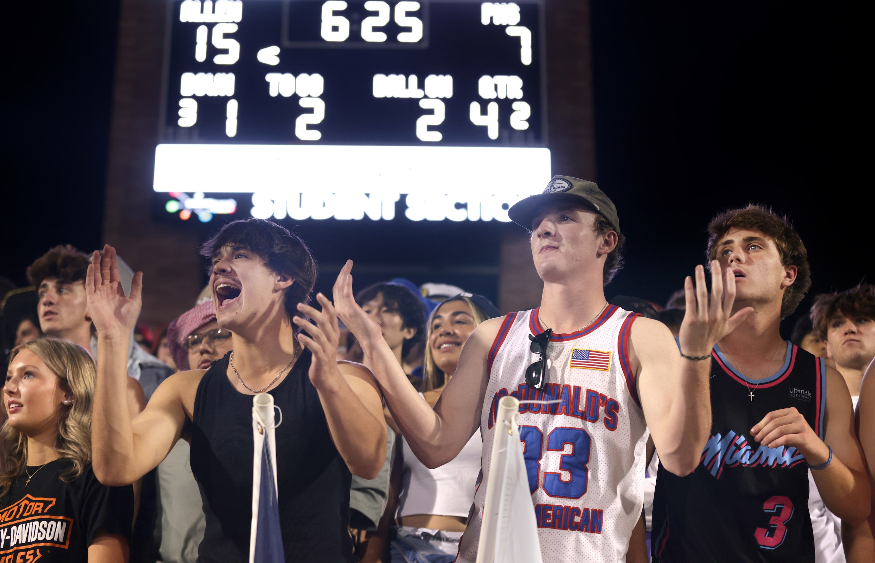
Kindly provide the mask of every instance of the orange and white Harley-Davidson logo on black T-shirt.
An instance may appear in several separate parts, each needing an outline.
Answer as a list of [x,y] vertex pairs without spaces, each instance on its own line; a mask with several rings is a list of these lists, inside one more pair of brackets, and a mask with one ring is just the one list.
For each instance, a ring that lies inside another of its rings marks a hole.
[[31,563],[42,557],[40,547],[70,546],[73,518],[47,512],[57,499],[25,495],[0,511],[0,563]]

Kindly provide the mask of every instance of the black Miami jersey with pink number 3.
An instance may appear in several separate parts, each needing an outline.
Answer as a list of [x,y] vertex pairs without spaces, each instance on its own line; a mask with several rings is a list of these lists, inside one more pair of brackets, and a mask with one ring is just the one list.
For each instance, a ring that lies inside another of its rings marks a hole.
[[[815,560],[808,465],[795,448],[750,437],[766,414],[796,407],[823,439],[823,359],[787,343],[773,376],[746,379],[717,346],[711,353],[711,437],[696,470],[679,477],[660,464],[651,553],[655,563]],[[750,393],[753,393],[751,400]]]

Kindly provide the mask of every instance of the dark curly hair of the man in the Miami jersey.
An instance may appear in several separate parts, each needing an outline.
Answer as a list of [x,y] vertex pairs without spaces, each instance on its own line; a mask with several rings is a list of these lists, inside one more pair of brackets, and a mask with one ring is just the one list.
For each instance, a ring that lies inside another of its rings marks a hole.
[[708,224],[708,257],[717,260],[717,250],[720,239],[731,229],[750,229],[765,234],[774,241],[781,255],[781,264],[796,267],[796,279],[784,291],[781,301],[781,318],[795,311],[802,297],[811,287],[811,268],[809,253],[802,244],[799,233],[796,233],[790,220],[772,211],[765,205],[747,205],[738,209],[730,209],[719,213]]

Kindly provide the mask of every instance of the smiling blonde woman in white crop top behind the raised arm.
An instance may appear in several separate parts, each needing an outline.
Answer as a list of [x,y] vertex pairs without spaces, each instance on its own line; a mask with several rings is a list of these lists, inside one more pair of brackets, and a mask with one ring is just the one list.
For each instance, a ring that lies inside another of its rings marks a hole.
[[[434,407],[456,372],[465,340],[479,323],[500,312],[482,295],[462,293],[432,312],[427,326],[421,393]],[[362,563],[428,561],[450,563],[465,532],[480,470],[482,442],[475,433],[456,459],[428,469],[402,436],[395,457],[388,504]],[[395,539],[388,546],[390,529]]]

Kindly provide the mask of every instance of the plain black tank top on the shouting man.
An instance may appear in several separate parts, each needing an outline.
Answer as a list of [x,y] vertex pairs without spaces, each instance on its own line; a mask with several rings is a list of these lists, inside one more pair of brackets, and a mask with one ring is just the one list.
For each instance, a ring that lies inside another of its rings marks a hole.
[[[351,474],[334,448],[307,375],[310,361],[304,349],[291,372],[269,391],[283,412],[276,428],[276,476],[285,560],[357,561],[346,528]],[[191,424],[192,471],[207,516],[198,550],[198,560],[205,563],[249,559],[253,396],[231,385],[227,369],[228,355],[200,380]]]

